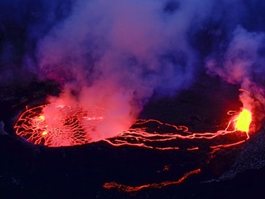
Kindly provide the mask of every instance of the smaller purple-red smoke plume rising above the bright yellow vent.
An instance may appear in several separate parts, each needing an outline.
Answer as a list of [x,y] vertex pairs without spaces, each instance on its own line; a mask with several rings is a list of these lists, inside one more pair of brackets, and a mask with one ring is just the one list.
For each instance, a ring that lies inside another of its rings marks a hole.
[[241,86],[239,99],[244,108],[253,112],[256,122],[264,118],[264,39],[263,32],[248,32],[237,26],[224,45],[225,52],[213,53],[206,59],[208,73]]

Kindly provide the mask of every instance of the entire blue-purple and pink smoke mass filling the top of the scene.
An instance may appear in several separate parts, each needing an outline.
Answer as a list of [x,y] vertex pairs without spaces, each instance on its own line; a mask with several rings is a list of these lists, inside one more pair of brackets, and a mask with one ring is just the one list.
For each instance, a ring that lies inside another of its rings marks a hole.
[[261,106],[264,8],[240,0],[1,1],[0,83],[52,79],[63,88],[52,102],[105,108],[95,140],[126,130],[150,97],[176,95],[204,71],[253,93],[241,95],[244,106]]

